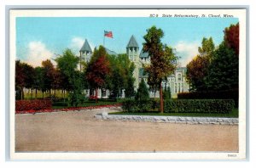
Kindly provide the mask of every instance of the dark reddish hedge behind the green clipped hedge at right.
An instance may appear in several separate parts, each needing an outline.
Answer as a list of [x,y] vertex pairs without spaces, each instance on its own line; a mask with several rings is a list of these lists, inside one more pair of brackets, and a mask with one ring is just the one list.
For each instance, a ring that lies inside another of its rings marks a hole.
[[230,89],[224,91],[206,91],[206,92],[180,92],[177,93],[178,99],[233,99],[238,107],[239,91]]

